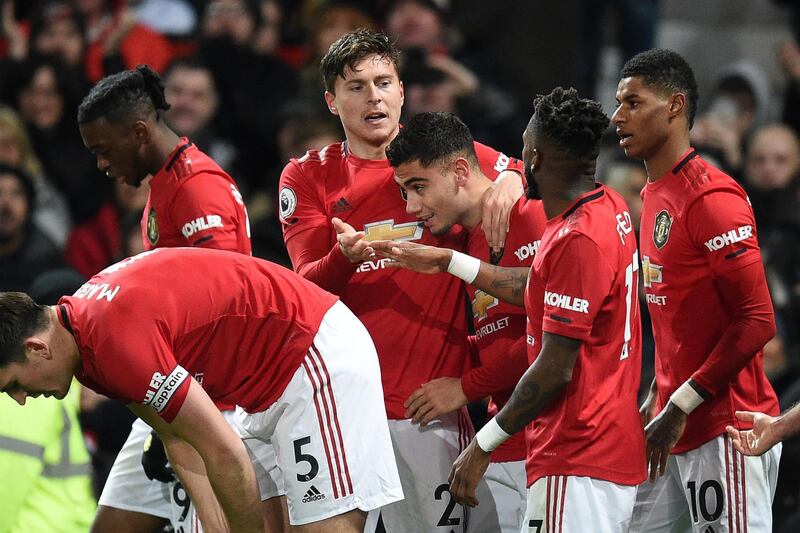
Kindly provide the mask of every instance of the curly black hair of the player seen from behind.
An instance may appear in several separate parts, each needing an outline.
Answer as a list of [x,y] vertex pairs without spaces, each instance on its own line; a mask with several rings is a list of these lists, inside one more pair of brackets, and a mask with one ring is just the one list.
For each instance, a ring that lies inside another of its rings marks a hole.
[[608,123],[598,102],[580,98],[573,88],[556,87],[550,94],[534,98],[528,130],[571,155],[594,159]]

